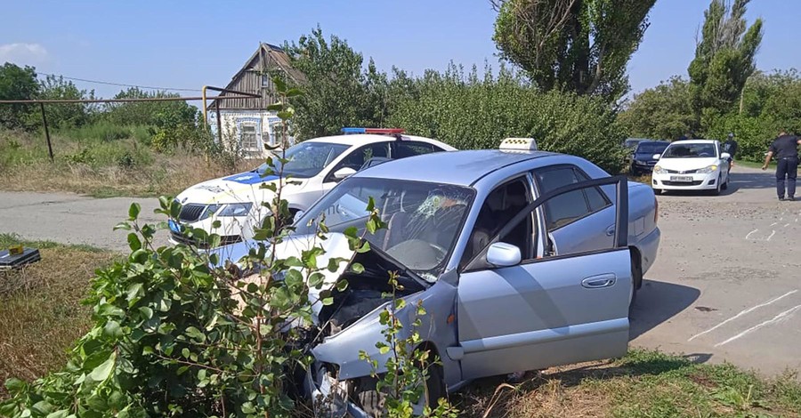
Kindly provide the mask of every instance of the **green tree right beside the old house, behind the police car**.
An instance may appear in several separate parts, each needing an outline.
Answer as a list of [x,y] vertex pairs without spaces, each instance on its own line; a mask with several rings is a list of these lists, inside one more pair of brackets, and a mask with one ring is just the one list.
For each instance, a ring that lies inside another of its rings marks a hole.
[[336,134],[348,125],[383,125],[386,76],[373,60],[365,70],[359,52],[337,36],[327,40],[320,28],[285,50],[305,75],[303,90],[311,92],[295,99],[298,138]]

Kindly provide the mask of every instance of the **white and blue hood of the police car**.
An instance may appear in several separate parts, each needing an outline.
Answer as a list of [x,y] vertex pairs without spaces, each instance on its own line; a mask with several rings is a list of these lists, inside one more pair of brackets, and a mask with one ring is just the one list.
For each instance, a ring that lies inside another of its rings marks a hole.
[[[271,190],[262,189],[264,182],[277,182],[279,176],[262,177],[256,172],[233,174],[219,179],[203,181],[189,189],[183,190],[176,197],[182,205],[187,204],[225,204],[237,202],[266,202],[272,197]],[[304,182],[299,185],[284,185],[287,189],[302,189]]]

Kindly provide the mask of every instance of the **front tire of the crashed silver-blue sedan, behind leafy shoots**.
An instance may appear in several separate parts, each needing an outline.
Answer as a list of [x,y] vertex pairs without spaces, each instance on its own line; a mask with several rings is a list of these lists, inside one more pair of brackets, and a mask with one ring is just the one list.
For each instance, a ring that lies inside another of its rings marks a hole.
[[[439,399],[447,394],[445,389],[445,378],[442,373],[442,366],[431,365],[428,367],[428,378],[425,380],[425,390],[415,409],[416,415],[423,414],[423,408],[429,406],[435,408]],[[364,377],[359,380],[356,389],[356,402],[361,409],[369,416],[384,416],[384,406],[386,405],[386,394],[376,390],[376,379]]]

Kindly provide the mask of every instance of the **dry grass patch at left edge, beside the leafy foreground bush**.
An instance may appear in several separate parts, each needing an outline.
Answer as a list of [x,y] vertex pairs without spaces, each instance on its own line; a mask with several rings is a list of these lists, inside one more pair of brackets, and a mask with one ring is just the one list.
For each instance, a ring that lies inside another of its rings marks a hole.
[[0,234],[0,248],[13,244],[38,248],[42,260],[0,272],[0,382],[34,379],[65,364],[67,350],[90,326],[90,309],[81,301],[94,270],[118,257],[87,245]]

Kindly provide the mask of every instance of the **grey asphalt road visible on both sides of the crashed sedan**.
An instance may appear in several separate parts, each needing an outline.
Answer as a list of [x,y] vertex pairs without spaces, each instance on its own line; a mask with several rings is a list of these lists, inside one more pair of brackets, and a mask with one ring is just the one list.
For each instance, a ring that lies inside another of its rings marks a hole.
[[[777,201],[774,183],[735,167],[722,196],[659,197],[662,242],[633,312],[633,345],[764,374],[801,370],[801,201]],[[132,201],[144,221],[160,220],[155,199],[0,192],[0,232],[125,251],[125,233],[112,228]]]

